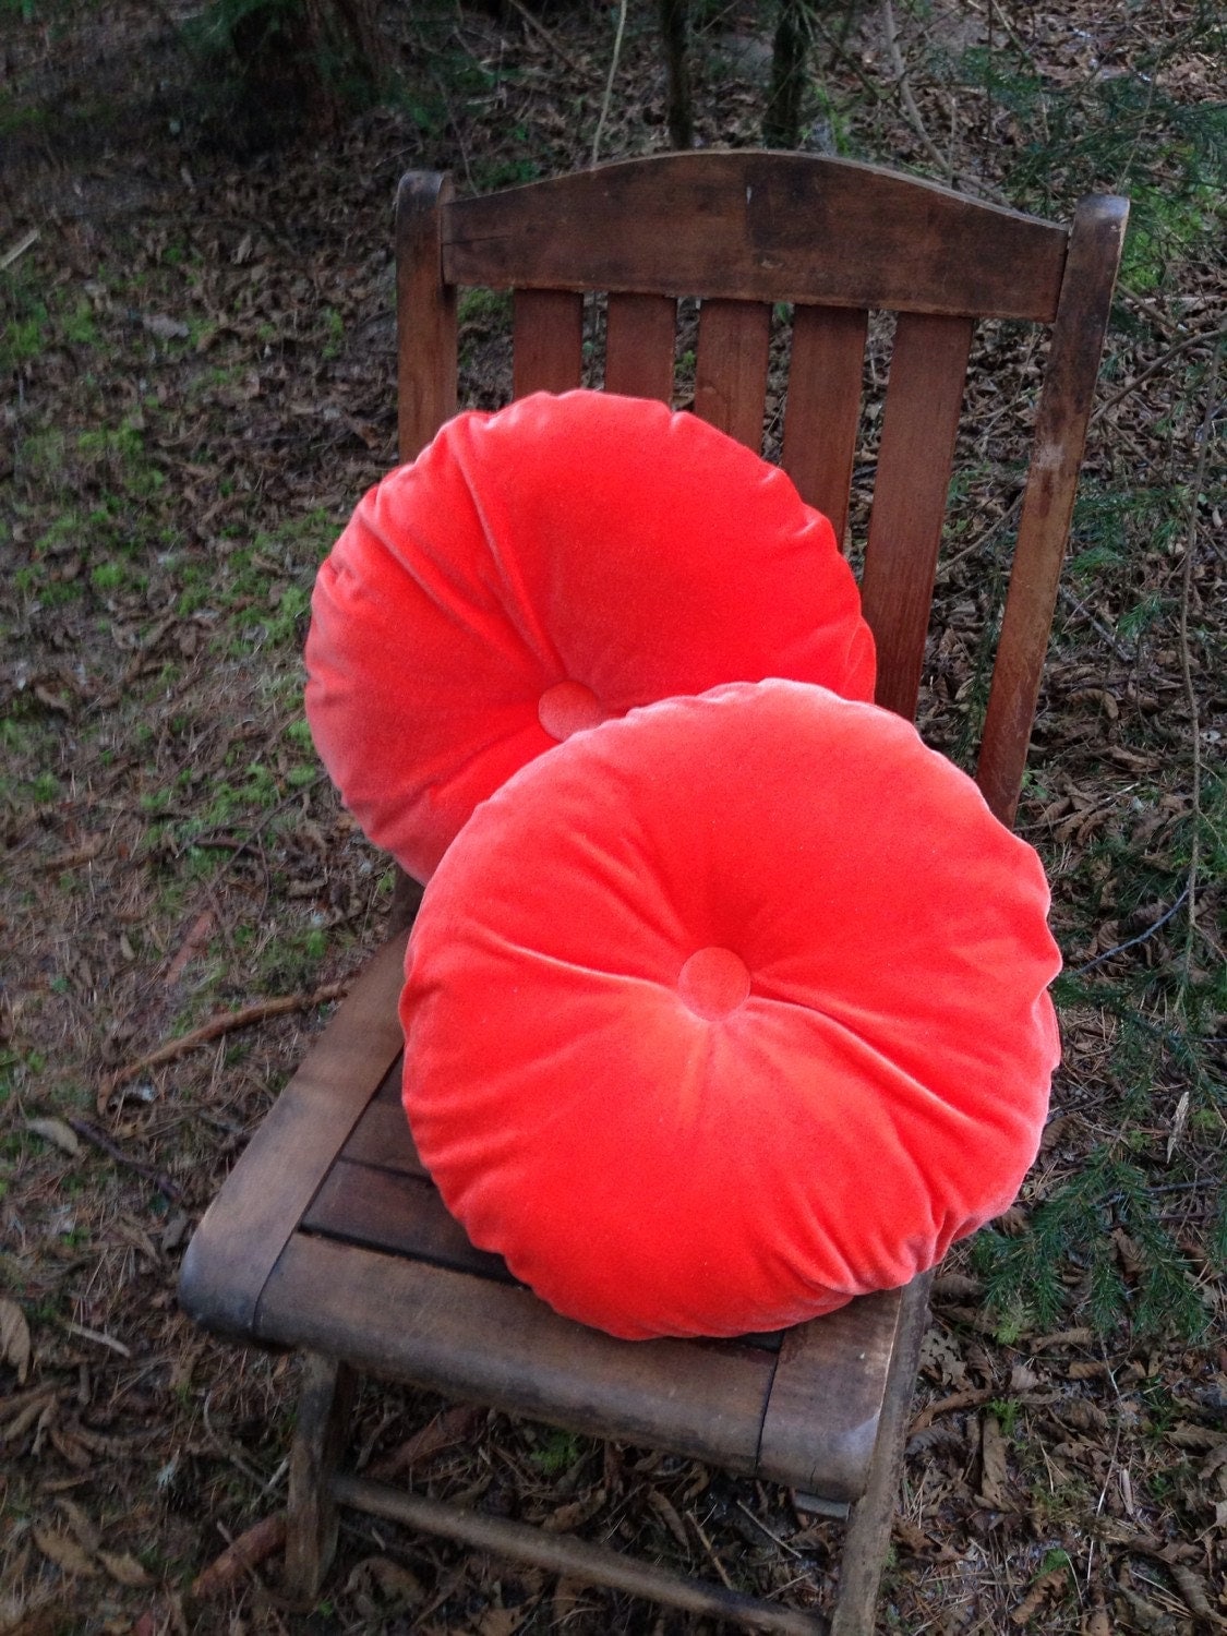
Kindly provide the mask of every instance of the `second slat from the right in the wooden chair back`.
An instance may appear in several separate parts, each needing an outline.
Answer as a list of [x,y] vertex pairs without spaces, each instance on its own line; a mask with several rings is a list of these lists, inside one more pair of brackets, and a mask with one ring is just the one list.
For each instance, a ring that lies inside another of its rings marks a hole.
[[802,499],[831,519],[844,543],[861,419],[869,312],[798,306],[792,326],[780,465]]

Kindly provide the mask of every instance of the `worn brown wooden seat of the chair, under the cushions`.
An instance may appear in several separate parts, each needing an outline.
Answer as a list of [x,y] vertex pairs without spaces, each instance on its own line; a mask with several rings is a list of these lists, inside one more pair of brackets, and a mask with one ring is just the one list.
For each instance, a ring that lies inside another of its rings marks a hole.
[[401,1111],[404,934],[363,967],[188,1248],[208,1328],[718,1461],[844,1507],[865,1489],[901,1292],[738,1340],[623,1342],[476,1250]]

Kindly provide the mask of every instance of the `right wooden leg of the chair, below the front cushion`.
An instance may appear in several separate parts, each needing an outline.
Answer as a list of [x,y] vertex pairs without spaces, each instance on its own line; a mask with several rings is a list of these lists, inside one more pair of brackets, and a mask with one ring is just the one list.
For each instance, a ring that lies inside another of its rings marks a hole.
[[890,1525],[898,1502],[911,1391],[929,1319],[931,1283],[933,1273],[923,1273],[919,1278],[913,1278],[903,1294],[900,1330],[890,1360],[869,1484],[852,1508],[852,1520],[844,1539],[831,1636],[874,1636],[874,1610],[890,1549]]

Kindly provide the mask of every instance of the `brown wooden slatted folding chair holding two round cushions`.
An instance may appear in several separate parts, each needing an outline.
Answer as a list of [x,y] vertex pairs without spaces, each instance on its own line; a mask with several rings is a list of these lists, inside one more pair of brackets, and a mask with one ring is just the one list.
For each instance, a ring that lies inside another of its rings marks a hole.
[[[793,154],[669,154],[466,200],[443,175],[409,173],[396,229],[401,456],[456,411],[458,286],[515,291],[515,394],[581,383],[584,293],[599,291],[605,388],[671,399],[677,298],[700,298],[694,411],[754,448],[772,314],[790,303],[782,465],[843,538],[867,314],[897,312],[862,597],[879,702],[911,717],[973,321],[1050,326],[978,761],[1009,823],[1126,214],[1124,200],[1093,196],[1067,229]],[[404,923],[407,895],[398,901]],[[353,983],[201,1220],[180,1284],[206,1327],[308,1355],[291,1589],[317,1590],[345,1503],[757,1629],[826,1629],[811,1613],[342,1474],[365,1371],[774,1479],[828,1513],[851,1508],[831,1628],[870,1631],[928,1279],[739,1342],[628,1343],[556,1317],[471,1248],[417,1160],[399,1108],[402,949],[401,928]]]

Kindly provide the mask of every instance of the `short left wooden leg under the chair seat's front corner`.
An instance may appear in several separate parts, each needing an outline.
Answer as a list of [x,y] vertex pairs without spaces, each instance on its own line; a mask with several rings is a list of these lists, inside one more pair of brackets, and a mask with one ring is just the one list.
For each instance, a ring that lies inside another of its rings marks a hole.
[[345,1446],[355,1376],[345,1363],[309,1351],[303,1360],[298,1427],[290,1451],[286,1589],[312,1602],[337,1551],[337,1507],[329,1484]]

